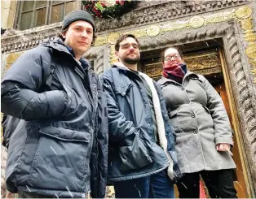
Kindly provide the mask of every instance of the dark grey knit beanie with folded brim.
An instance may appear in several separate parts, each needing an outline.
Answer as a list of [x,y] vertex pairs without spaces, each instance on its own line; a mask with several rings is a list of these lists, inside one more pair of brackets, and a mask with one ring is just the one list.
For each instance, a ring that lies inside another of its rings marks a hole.
[[89,24],[92,25],[92,28],[95,32],[95,22],[92,18],[92,16],[86,12],[86,11],[72,11],[69,12],[68,15],[65,15],[63,21],[62,21],[62,30],[64,30],[65,28],[68,28],[68,25],[72,24],[75,21],[78,20],[83,20],[88,22]]

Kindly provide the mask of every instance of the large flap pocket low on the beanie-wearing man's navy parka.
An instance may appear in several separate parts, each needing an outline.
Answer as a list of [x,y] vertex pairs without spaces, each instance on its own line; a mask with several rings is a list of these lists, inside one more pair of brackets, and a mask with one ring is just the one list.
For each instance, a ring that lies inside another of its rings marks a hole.
[[57,127],[41,128],[39,134],[29,184],[41,189],[86,191],[91,134]]

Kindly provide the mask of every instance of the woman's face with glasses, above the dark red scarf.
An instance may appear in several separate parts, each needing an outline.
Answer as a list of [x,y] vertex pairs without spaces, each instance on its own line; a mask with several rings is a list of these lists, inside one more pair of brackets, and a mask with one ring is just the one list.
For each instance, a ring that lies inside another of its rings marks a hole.
[[164,66],[183,63],[183,59],[180,57],[178,50],[174,48],[167,49],[164,55]]

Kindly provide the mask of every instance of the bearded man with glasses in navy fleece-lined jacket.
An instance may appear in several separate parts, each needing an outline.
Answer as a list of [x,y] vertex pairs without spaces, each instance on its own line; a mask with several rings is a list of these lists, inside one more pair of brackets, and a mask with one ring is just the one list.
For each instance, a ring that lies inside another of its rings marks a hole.
[[121,36],[118,63],[104,72],[108,104],[108,183],[117,198],[173,198],[181,173],[161,88],[137,71],[139,41]]

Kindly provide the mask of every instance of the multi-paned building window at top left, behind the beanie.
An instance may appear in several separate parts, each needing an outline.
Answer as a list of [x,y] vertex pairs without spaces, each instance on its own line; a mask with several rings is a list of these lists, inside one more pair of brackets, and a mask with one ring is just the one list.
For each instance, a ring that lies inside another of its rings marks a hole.
[[[79,2],[82,4],[82,2]],[[20,1],[18,24],[20,30],[53,24],[76,9],[75,1]]]

